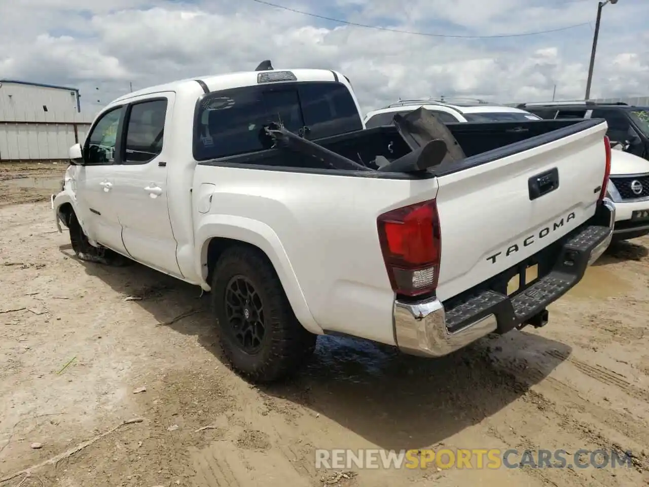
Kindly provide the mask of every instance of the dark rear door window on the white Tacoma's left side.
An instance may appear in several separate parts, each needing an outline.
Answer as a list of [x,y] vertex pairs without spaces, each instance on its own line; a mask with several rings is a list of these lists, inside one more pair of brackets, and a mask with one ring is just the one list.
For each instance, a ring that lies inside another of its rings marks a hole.
[[146,164],[162,152],[167,100],[136,103],[126,131],[125,164]]

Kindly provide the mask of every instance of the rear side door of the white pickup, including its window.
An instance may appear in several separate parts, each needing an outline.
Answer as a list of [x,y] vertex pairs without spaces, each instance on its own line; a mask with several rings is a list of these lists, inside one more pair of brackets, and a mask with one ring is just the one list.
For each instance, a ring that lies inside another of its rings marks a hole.
[[115,195],[129,255],[154,269],[183,277],[167,206],[171,140],[165,140],[169,138],[164,132],[174,99],[175,94],[168,92],[130,103],[124,123],[124,156],[115,168]]

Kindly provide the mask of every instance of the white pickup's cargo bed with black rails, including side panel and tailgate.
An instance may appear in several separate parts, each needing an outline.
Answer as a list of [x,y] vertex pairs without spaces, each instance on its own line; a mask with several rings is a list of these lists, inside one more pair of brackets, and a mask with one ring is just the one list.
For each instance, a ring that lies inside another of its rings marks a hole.
[[247,228],[240,238],[277,255],[273,263],[284,269],[280,279],[291,303],[308,303],[308,312],[297,312],[300,321],[382,343],[394,343],[395,291],[377,231],[386,212],[434,201],[441,229],[434,295],[441,303],[499,288],[494,280],[506,284],[520,266],[537,265],[542,279],[547,263],[559,258],[557,248],[596,214],[606,178],[606,123],[447,127],[465,157],[424,171],[374,170],[377,156],[391,161],[418,150],[411,133],[396,125],[314,141],[365,166],[358,170],[333,167],[335,157],[319,156],[313,146],[305,149],[311,155],[296,150],[304,144],[202,160],[193,182],[197,239],[206,221],[236,238],[232,221],[238,221],[237,229]]

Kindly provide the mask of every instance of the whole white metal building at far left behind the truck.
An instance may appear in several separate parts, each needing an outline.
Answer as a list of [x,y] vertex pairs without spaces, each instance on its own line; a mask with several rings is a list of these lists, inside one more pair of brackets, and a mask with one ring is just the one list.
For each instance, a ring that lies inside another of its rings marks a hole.
[[77,88],[0,79],[0,163],[65,162],[91,121]]

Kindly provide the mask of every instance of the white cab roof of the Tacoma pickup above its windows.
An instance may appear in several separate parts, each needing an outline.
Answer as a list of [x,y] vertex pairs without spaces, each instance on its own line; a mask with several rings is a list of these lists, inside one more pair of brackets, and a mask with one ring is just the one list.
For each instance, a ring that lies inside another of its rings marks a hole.
[[114,99],[111,104],[141,95],[150,95],[161,92],[178,92],[182,90],[191,90],[192,92],[195,92],[196,90],[203,91],[201,88],[201,82],[208,87],[210,92],[227,90],[228,88],[238,88],[239,86],[254,86],[259,82],[258,75],[260,73],[283,73],[286,71],[290,71],[295,75],[295,78],[297,78],[295,81],[341,81],[341,78],[344,78],[341,73],[337,73],[330,69],[270,69],[268,71],[238,71],[235,73],[224,73],[222,75],[205,75],[180,79],[165,84],[149,86],[142,90],[122,95],[121,97]]

